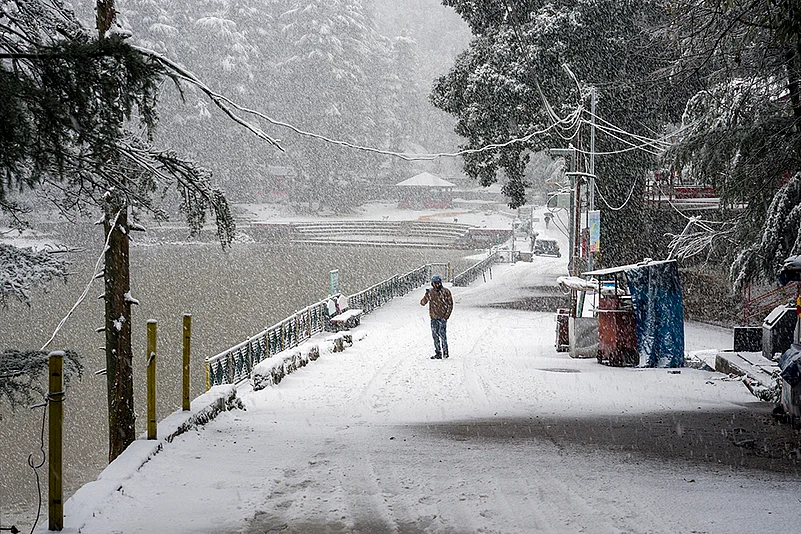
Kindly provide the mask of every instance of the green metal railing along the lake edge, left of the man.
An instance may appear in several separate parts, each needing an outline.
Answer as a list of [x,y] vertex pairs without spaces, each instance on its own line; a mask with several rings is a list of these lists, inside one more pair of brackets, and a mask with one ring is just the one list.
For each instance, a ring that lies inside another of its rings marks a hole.
[[[395,275],[348,297],[350,308],[367,314],[394,297],[406,295],[427,283],[434,273],[447,279],[450,264],[429,263],[406,274]],[[330,298],[330,297],[329,297]],[[236,384],[250,378],[253,367],[265,358],[297,347],[325,330],[328,319],[328,298],[287,317],[255,336],[211,358],[206,358],[206,389],[219,384]]]

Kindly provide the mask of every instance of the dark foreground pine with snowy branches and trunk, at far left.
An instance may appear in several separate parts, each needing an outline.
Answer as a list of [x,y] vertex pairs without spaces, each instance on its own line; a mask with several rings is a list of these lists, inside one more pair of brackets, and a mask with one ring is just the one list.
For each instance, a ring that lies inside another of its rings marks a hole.
[[152,146],[158,87],[175,71],[130,46],[115,13],[113,1],[97,3],[94,37],[59,0],[0,0],[0,209],[22,218],[11,195],[31,189],[64,212],[104,214],[109,460],[135,439],[131,208],[165,217],[154,195],[172,185],[193,233],[207,212],[223,246],[235,229],[209,173]]

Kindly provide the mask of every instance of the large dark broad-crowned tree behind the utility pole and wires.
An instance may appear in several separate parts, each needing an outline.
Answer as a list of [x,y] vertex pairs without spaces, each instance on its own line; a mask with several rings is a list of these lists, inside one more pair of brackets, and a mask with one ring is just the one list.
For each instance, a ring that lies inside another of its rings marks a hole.
[[[554,128],[548,106],[562,118],[582,106],[587,109],[588,89],[594,86],[599,114],[620,128],[659,135],[666,124],[678,121],[681,93],[669,79],[653,75],[670,64],[672,51],[664,34],[649,31],[667,16],[661,2],[444,0],[443,4],[452,6],[474,35],[469,49],[432,93],[434,105],[457,117],[456,131],[466,139],[463,148],[505,143],[551,127],[547,134],[525,142],[464,158],[465,171],[481,185],[503,180],[502,190],[513,208],[526,201],[530,184],[525,171],[533,152],[568,143],[578,146],[580,141],[587,149],[586,129],[580,133],[573,121]],[[564,66],[574,73],[575,81]],[[665,94],[672,98],[665,100]],[[588,119],[586,112],[582,117]],[[624,148],[628,147],[615,138],[599,134],[598,152]],[[638,237],[643,233],[644,178],[656,163],[656,157],[640,151],[596,159],[600,193],[596,198],[604,228],[601,249],[607,264],[643,257],[646,243]],[[583,157],[578,169],[587,170]],[[629,192],[631,201],[614,210]]]

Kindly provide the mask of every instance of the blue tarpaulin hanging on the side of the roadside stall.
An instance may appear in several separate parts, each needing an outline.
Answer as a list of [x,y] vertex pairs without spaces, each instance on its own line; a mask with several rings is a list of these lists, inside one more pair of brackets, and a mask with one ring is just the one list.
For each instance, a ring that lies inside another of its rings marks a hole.
[[626,269],[637,318],[640,365],[684,365],[684,304],[675,261],[632,265]]

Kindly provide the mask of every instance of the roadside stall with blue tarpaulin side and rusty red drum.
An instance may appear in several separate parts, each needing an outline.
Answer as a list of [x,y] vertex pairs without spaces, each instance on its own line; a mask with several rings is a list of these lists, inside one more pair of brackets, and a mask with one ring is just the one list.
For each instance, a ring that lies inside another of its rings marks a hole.
[[675,260],[584,273],[598,282],[598,361],[614,366],[684,365],[684,306]]

